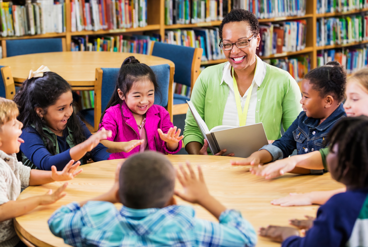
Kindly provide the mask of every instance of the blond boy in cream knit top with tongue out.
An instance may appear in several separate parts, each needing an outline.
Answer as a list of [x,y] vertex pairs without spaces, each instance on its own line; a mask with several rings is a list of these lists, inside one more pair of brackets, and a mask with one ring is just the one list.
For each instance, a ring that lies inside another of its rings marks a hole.
[[29,185],[42,185],[54,181],[70,180],[77,176],[82,169],[76,171],[80,162],[73,165],[71,160],[63,171],[40,171],[26,167],[18,162],[16,153],[24,141],[19,137],[23,124],[17,120],[18,107],[12,100],[0,97],[0,246],[25,246],[14,230],[13,218],[33,210],[38,205],[52,204],[66,194],[64,183],[54,193],[50,190],[42,196],[17,200]]

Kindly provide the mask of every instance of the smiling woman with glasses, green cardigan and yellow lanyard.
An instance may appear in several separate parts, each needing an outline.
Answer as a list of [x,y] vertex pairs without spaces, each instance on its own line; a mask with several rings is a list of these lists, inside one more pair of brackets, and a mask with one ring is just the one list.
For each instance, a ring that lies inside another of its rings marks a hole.
[[[208,129],[262,122],[267,138],[279,139],[281,124],[286,131],[302,111],[296,81],[289,72],[256,56],[261,37],[253,13],[231,10],[220,25],[219,36],[219,46],[227,62],[201,72],[192,91],[192,103]],[[185,119],[183,141],[189,154],[207,154],[208,144],[190,110]],[[216,155],[225,152],[221,150]]]

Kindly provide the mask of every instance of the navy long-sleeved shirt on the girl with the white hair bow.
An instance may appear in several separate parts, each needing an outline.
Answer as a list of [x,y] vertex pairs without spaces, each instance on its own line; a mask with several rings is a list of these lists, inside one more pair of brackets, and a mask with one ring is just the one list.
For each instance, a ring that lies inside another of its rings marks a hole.
[[[81,124],[84,136],[88,139],[92,134],[88,130],[87,126],[82,122],[79,117],[78,120]],[[63,131],[67,132],[66,130]],[[70,147],[66,143],[66,136],[57,136],[57,142],[59,145],[59,154],[52,155],[43,143],[42,137],[39,135],[37,130],[31,126],[26,127],[22,135],[20,136],[24,143],[21,144],[20,150],[22,153],[38,168],[41,170],[51,171],[51,167],[56,166],[58,171],[61,171],[66,164],[71,160]],[[63,143],[64,140],[64,143]],[[107,160],[110,157],[110,153],[107,153],[107,147],[99,143],[95,148],[92,149],[92,160],[102,161]]]

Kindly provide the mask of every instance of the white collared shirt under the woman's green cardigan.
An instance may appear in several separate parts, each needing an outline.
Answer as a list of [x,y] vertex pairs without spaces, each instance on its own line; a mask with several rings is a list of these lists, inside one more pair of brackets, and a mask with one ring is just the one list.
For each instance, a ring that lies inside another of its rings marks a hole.
[[[255,69],[255,74],[253,78],[253,90],[251,94],[251,99],[249,101],[249,108],[247,113],[247,123],[245,125],[251,125],[255,124],[255,114],[256,114],[256,104],[257,104],[257,88],[261,86],[263,79],[265,79],[266,76],[266,64],[256,56],[257,66]],[[239,116],[238,111],[236,108],[236,102],[235,102],[235,93],[234,93],[234,83],[233,83],[233,77],[231,76],[231,65],[230,62],[226,62],[224,65],[223,71],[222,71],[222,79],[221,83],[226,83],[229,87],[229,96],[227,96],[227,101],[224,109],[224,115],[222,119],[223,125],[230,125],[230,126],[239,126]],[[241,109],[244,111],[244,105],[245,100],[247,100],[248,91],[244,93],[244,96],[241,97],[240,94],[238,94],[238,97],[240,98],[241,103]]]

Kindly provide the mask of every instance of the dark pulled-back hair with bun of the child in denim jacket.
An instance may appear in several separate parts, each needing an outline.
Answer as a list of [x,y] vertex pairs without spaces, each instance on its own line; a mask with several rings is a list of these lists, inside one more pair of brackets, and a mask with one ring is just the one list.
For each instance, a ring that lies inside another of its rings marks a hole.
[[346,71],[339,62],[328,62],[325,66],[312,69],[304,79],[312,83],[313,89],[317,90],[321,97],[331,94],[338,102],[345,98]]

